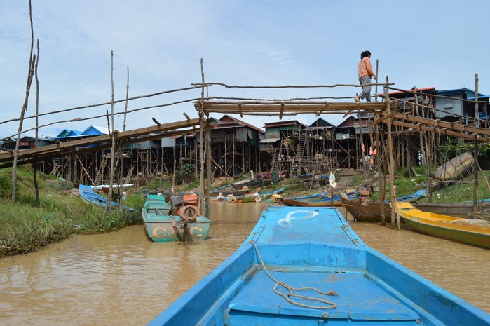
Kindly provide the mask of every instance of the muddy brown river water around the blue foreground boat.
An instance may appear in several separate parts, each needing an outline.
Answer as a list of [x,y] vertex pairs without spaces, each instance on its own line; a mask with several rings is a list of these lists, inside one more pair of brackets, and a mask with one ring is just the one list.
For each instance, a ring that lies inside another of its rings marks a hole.
[[[0,325],[146,325],[235,252],[263,208],[211,203],[202,242],[152,243],[138,225],[2,258]],[[490,313],[490,250],[350,224],[367,245]]]

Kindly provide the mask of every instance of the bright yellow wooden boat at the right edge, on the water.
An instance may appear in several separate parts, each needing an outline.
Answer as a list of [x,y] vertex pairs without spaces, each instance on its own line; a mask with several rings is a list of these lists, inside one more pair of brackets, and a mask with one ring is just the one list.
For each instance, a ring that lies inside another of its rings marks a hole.
[[431,212],[422,212],[410,203],[397,203],[397,211],[417,231],[490,248],[490,223],[482,219],[465,219]]

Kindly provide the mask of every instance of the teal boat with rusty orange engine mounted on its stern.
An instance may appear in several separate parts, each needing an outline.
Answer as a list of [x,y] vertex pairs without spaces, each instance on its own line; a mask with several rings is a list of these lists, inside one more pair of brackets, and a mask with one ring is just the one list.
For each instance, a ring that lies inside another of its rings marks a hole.
[[205,240],[210,219],[197,215],[197,197],[148,195],[142,209],[144,229],[152,241]]

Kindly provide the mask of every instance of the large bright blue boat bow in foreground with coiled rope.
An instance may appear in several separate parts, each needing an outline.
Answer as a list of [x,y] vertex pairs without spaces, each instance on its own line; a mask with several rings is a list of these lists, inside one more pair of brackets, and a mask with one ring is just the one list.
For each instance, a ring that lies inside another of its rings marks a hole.
[[339,210],[273,206],[148,325],[488,326],[490,315],[365,245]]

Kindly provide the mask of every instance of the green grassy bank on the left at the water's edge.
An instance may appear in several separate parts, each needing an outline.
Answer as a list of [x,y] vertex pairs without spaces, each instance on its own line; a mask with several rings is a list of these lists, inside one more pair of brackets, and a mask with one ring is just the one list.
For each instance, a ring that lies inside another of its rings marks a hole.
[[[64,240],[72,234],[116,231],[139,222],[125,211],[114,210],[104,216],[104,209],[86,203],[72,194],[70,182],[38,173],[39,203],[35,201],[33,170],[23,165],[17,172],[15,203],[11,203],[12,170],[0,170],[0,257],[33,252]],[[130,196],[125,205],[141,211],[142,196]]]

